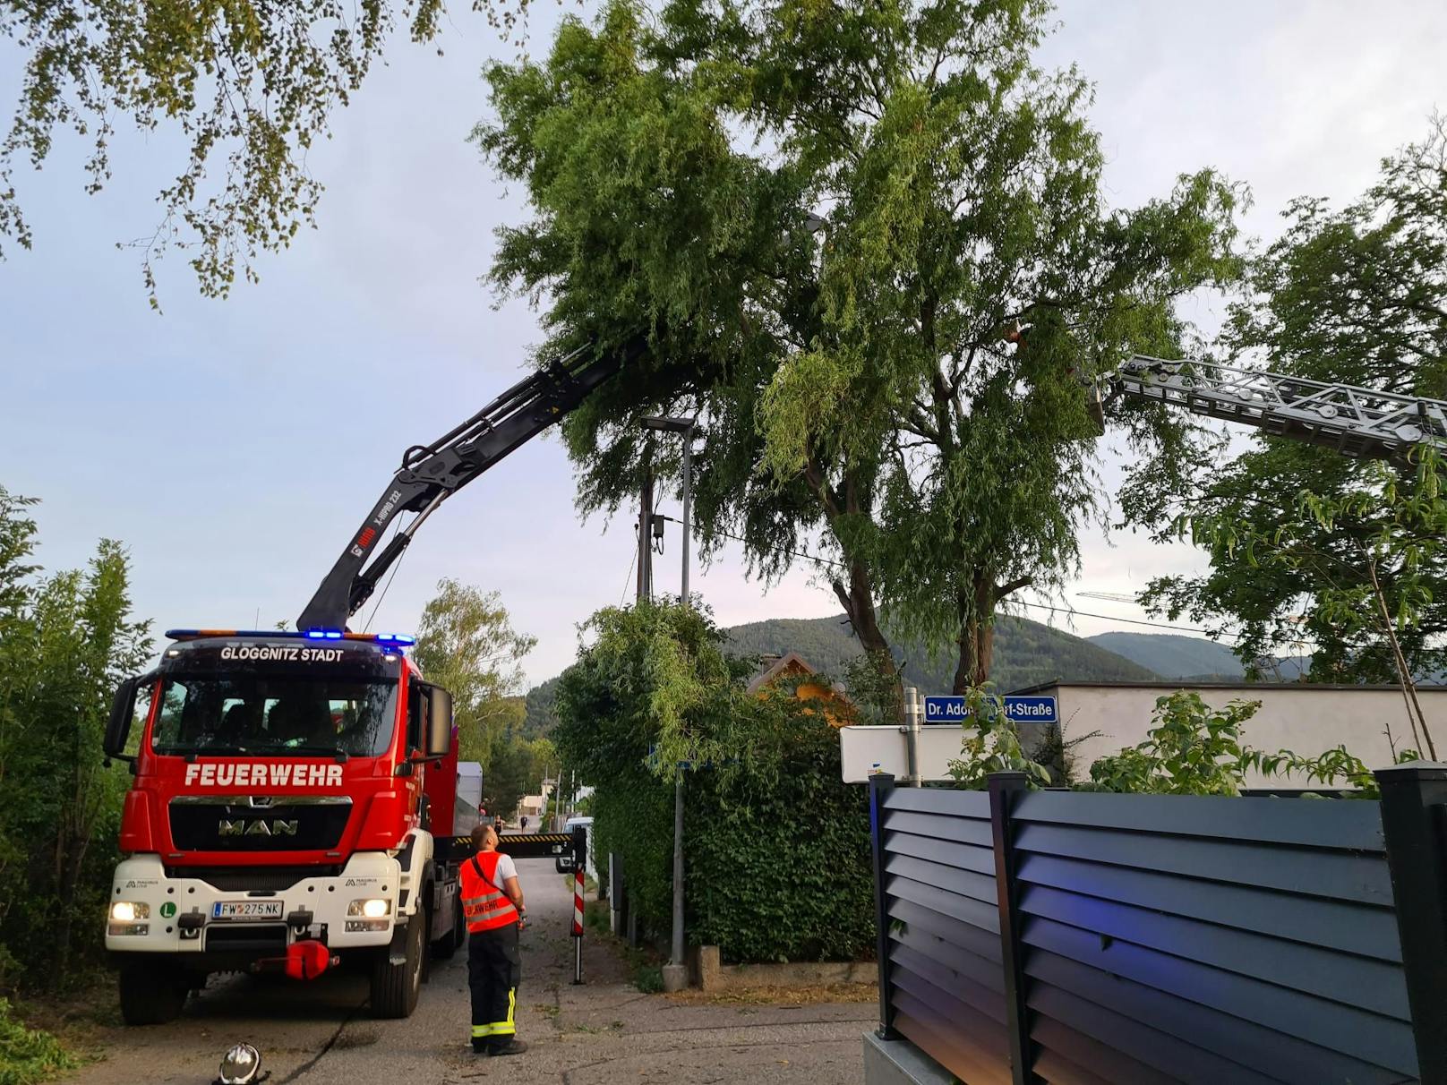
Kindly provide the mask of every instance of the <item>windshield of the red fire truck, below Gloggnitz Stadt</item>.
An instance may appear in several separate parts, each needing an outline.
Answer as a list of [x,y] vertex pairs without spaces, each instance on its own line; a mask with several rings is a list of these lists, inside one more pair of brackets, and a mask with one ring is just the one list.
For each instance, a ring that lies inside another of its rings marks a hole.
[[168,677],[158,754],[378,757],[392,741],[396,681],[285,674]]

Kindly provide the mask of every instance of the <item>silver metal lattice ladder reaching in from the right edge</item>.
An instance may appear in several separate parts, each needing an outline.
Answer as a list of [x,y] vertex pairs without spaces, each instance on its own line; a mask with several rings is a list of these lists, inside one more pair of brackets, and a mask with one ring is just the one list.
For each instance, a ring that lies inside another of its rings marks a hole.
[[1343,456],[1402,459],[1417,444],[1447,450],[1447,402],[1441,399],[1146,354],[1121,366],[1116,388]]

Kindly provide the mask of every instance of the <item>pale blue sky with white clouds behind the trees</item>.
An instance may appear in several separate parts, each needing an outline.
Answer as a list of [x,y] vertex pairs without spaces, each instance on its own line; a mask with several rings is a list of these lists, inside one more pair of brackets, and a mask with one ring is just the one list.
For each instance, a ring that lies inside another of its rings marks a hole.
[[[534,0],[534,51],[560,10]],[[1440,0],[1066,0],[1056,19],[1039,61],[1077,64],[1095,84],[1091,116],[1120,207],[1210,165],[1250,185],[1246,230],[1269,240],[1292,197],[1350,200],[1383,155],[1447,110]],[[464,6],[441,46],[438,56],[398,42],[336,114],[310,155],[327,185],[318,229],[265,256],[260,284],[226,301],[201,298],[172,256],[156,315],[135,250],[116,247],[155,229],[155,192],[182,162],[174,136],[122,133],[100,195],[82,191],[75,137],[56,140],[43,171],[17,171],[35,247],[6,246],[0,262],[0,485],[42,499],[48,569],[81,566],[98,538],[119,538],[136,612],[158,629],[292,621],[402,448],[524,373],[537,314],[499,307],[479,279],[493,230],[527,208],[466,142],[489,113],[483,64],[518,46]],[[0,43],[7,109],[19,65]],[[1220,304],[1195,298],[1185,315],[1211,330]],[[1103,486],[1120,470],[1107,451]],[[556,437],[521,448],[418,532],[370,628],[415,628],[437,580],[456,577],[501,592],[515,628],[538,638],[530,681],[556,674],[576,655],[577,624],[632,587],[627,514],[585,521],[573,496]],[[679,590],[670,532],[655,558],[661,592]],[[1107,618],[1023,613],[1079,635],[1147,631],[1127,624],[1147,618],[1134,605],[1075,593],[1134,593],[1201,566],[1185,545],[1091,529],[1066,603]],[[695,569],[692,586],[724,625],[839,609],[807,567],[770,587],[750,582],[738,550]]]

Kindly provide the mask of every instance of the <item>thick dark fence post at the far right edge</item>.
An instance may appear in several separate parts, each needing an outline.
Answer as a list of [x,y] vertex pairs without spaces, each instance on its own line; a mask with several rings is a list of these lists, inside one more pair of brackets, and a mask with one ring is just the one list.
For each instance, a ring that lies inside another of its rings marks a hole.
[[1373,775],[1382,788],[1418,1076],[1447,1081],[1447,764],[1408,761]]

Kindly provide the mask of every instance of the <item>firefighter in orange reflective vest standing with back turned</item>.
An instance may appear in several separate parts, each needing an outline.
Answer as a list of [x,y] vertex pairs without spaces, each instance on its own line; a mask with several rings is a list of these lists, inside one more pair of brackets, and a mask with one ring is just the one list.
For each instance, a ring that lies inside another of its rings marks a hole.
[[522,959],[518,932],[527,923],[518,868],[498,851],[491,825],[472,830],[476,855],[462,865],[462,911],[467,920],[467,987],[472,990],[475,1055],[521,1055],[514,1014]]

